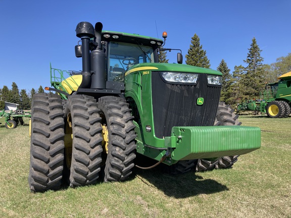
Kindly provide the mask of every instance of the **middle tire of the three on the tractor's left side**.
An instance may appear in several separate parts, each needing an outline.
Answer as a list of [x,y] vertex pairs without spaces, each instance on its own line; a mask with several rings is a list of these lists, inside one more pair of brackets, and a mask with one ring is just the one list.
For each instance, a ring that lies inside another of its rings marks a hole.
[[70,187],[94,184],[99,178],[102,161],[100,110],[96,100],[87,95],[71,95],[63,105],[67,118],[66,134],[72,134],[72,142],[66,142],[72,147],[66,147],[65,152]]

